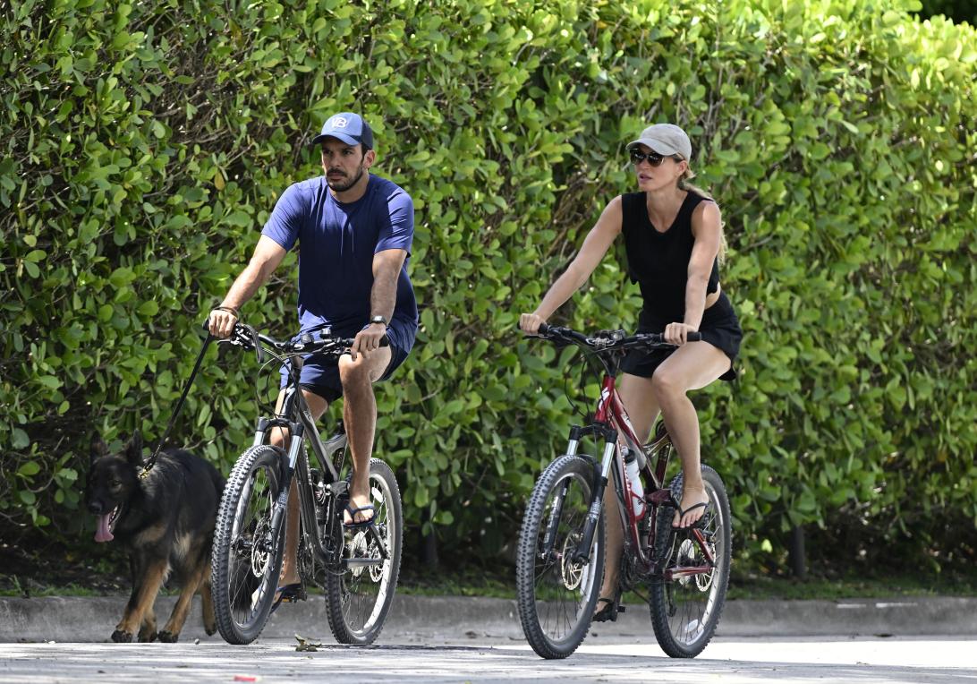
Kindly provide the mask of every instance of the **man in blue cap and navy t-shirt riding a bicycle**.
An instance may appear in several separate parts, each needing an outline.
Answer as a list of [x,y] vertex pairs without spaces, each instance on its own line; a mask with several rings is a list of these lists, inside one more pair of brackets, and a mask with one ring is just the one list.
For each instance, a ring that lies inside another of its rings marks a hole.
[[[353,456],[350,504],[344,522],[372,524],[368,489],[369,459],[376,427],[372,383],[385,380],[413,347],[417,305],[407,277],[414,211],[410,195],[369,173],[376,159],[373,132],[359,115],[330,116],[313,139],[320,148],[323,176],[290,186],[279,198],[262,230],[250,263],[210,313],[210,332],[231,334],[240,307],[275,271],[296,240],[299,252],[298,312],[301,331],[321,330],[355,337],[350,354],[307,358],[301,371],[302,393],[313,418],[345,396],[343,421]],[[384,336],[389,346],[381,346]],[[282,368],[282,387],[285,369]],[[280,408],[283,395],[278,396]],[[275,430],[272,444],[286,448]],[[293,483],[288,496],[285,555],[278,581],[277,606],[304,597],[296,566],[299,510]]]

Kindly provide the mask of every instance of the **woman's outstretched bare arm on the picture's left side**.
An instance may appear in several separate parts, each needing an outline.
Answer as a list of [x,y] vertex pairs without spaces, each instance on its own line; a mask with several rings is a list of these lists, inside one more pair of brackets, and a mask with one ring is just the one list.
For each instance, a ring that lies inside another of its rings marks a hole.
[[622,217],[621,199],[618,195],[604,208],[601,217],[583,240],[579,253],[563,275],[549,288],[536,310],[519,317],[519,326],[524,332],[536,333],[540,323],[546,322],[553,312],[570,299],[573,292],[578,290],[587,278],[590,278],[590,274],[597,268],[620,233]]

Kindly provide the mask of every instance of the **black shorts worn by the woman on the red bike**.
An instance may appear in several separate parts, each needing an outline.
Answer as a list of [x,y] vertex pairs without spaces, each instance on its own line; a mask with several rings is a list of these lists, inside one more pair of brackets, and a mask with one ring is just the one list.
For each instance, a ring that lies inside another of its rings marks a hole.
[[[674,321],[656,320],[648,312],[641,312],[637,332],[664,332],[665,325]],[[743,329],[736,318],[733,305],[725,292],[719,293],[719,299],[702,314],[699,326],[702,341],[722,350],[730,358],[730,369],[719,376],[720,380],[735,380],[737,377],[737,355],[740,354],[740,342],[743,340]],[[677,349],[677,348],[676,348]],[[622,372],[639,377],[651,377],[656,368],[667,359],[675,349],[656,349],[651,352],[631,350],[620,363]]]

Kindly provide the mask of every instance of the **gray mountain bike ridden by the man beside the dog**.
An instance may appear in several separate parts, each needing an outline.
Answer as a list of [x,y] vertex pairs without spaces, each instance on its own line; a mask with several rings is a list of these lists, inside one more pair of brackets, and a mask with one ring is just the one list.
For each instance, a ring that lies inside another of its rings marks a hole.
[[[228,477],[214,531],[211,584],[221,635],[232,644],[258,638],[275,605],[284,551],[288,491],[299,494],[298,571],[303,586],[324,590],[333,636],[344,644],[371,644],[390,612],[401,568],[401,492],[393,471],[379,458],[369,463],[372,524],[343,524],[350,500],[346,434],[342,424],[327,441],[299,391],[299,371],[308,354],[349,353],[353,339],[328,328],[289,341],[236,323],[227,340],[287,370],[284,401],[272,418],[258,420],[254,443]],[[287,451],[269,444],[273,429],[288,435]],[[307,448],[316,456],[310,467]]]

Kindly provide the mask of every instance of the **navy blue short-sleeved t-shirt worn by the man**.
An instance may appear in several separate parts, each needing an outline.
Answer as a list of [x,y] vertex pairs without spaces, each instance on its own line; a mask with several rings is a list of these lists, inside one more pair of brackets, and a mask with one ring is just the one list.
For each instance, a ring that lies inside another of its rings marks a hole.
[[347,336],[369,322],[373,255],[406,250],[388,334],[410,350],[417,328],[417,303],[407,278],[414,204],[402,188],[370,175],[363,196],[344,203],[329,192],[324,176],[296,183],[278,198],[261,233],[285,250],[299,241],[302,329],[327,323],[333,333]]

